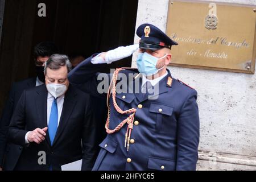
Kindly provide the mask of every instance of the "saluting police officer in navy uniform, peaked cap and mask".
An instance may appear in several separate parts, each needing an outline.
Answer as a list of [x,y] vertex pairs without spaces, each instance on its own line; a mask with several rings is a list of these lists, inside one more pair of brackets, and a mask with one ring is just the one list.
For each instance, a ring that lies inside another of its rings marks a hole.
[[106,63],[130,56],[138,45],[95,54],[69,74],[73,85],[108,100],[108,135],[100,144],[93,170],[195,170],[197,92],[167,69],[170,49],[177,43],[152,24],[139,26],[137,35],[141,38],[138,69],[116,69],[108,93],[99,93],[101,79],[96,72]]

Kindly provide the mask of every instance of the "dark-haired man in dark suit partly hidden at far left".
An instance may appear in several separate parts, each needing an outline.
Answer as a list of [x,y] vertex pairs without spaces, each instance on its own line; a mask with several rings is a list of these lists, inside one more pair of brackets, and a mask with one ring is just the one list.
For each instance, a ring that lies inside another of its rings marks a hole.
[[23,81],[15,82],[11,87],[9,99],[6,102],[3,114],[0,119],[0,170],[13,170],[19,155],[22,152],[22,146],[7,143],[6,133],[10,124],[11,116],[19,101],[23,90],[34,88],[44,84],[44,63],[53,53],[57,53],[58,48],[52,42],[41,42],[34,48],[35,70],[37,77],[28,78]]

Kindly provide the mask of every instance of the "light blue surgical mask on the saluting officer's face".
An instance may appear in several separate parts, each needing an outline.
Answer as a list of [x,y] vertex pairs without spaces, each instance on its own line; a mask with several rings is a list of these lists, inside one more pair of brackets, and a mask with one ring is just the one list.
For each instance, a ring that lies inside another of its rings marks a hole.
[[158,63],[158,60],[163,59],[166,56],[167,55],[164,55],[163,57],[158,58],[147,52],[139,53],[137,58],[138,71],[145,76],[155,75],[155,73],[158,73],[164,68],[163,66],[160,69],[156,69],[156,63]]

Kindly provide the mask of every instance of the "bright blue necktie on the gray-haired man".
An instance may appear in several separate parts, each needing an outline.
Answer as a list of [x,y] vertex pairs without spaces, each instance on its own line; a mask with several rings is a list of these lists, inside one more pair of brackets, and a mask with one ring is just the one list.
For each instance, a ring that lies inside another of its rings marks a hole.
[[52,102],[51,114],[49,117],[48,132],[51,144],[53,144],[58,127],[58,107],[56,98]]

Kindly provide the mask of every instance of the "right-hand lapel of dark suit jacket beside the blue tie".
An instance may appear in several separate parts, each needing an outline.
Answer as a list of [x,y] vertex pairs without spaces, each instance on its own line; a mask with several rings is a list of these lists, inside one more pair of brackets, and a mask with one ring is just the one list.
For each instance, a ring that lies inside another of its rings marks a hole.
[[57,133],[55,135],[52,146],[54,146],[54,144],[59,139],[61,133],[63,132],[65,126],[67,126],[69,117],[70,117],[70,115],[73,111],[73,108],[75,107],[76,102],[77,102],[77,98],[75,97],[76,95],[77,95],[77,93],[72,88],[72,85],[69,85],[68,91],[67,91],[67,93],[65,93],[63,109],[62,109],[61,117],[60,117],[60,123],[59,123]]

